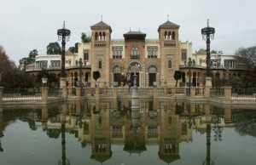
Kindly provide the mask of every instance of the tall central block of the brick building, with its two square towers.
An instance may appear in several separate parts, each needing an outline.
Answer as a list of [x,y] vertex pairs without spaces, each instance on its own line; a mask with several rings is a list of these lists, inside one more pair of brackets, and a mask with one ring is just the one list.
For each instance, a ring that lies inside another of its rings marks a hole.
[[91,65],[85,77],[90,77],[92,71],[100,71],[99,81],[108,86],[119,82],[121,74],[132,76],[135,73],[139,87],[150,87],[154,82],[174,84],[174,71],[179,70],[182,60],[180,54],[182,51],[191,53],[190,44],[182,48],[178,40],[179,26],[169,20],[159,26],[159,38],[154,40],[146,39],[142,31],[128,31],[124,39],[112,40],[111,26],[103,21],[90,28],[91,42],[79,44],[79,57]]

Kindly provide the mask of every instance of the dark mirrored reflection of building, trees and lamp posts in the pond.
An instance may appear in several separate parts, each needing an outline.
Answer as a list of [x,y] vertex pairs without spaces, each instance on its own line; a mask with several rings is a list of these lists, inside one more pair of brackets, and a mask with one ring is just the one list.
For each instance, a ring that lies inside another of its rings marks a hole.
[[[158,145],[161,161],[172,163],[181,159],[181,142],[193,141],[193,130],[207,134],[205,159],[213,164],[211,133],[215,141],[223,139],[224,128],[235,127],[241,135],[256,137],[255,110],[238,110],[204,103],[140,100],[104,100],[71,102],[33,109],[3,109],[0,115],[0,151],[4,129],[19,119],[29,128],[41,128],[50,139],[61,137],[59,165],[72,164],[66,151],[66,133],[74,134],[81,148],[90,145],[90,159],[107,162],[113,156],[111,145],[122,145],[130,155],[147,152],[148,145]],[[1,161],[0,161],[1,162]],[[198,164],[201,164],[198,162]],[[215,163],[216,164],[216,163]]]

